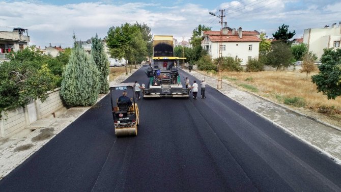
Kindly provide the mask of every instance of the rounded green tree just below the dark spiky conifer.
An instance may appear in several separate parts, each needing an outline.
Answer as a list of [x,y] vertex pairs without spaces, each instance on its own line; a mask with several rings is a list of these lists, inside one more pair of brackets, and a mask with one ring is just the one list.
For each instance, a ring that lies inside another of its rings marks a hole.
[[288,67],[292,64],[293,54],[290,45],[282,41],[271,43],[271,51],[267,55],[267,64],[276,67],[276,71],[281,67]]

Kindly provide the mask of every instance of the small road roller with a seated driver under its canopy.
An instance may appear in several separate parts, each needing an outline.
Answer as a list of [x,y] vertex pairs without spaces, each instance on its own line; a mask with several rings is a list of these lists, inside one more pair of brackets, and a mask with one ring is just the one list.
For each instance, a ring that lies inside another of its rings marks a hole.
[[[110,101],[116,136],[137,136],[139,112],[135,103],[134,86],[134,83],[110,85]],[[121,92],[121,95],[118,92]],[[114,100],[115,98],[117,99]]]

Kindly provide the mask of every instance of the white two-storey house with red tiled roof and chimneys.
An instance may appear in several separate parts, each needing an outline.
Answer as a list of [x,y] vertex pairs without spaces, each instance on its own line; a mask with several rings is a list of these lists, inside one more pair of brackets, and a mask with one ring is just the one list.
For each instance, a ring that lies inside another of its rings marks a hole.
[[[258,31],[242,31],[242,28],[222,30],[222,57],[233,57],[242,60],[242,65],[246,65],[248,59],[258,58],[259,38]],[[207,50],[212,59],[219,57],[220,31],[202,32],[202,46]]]

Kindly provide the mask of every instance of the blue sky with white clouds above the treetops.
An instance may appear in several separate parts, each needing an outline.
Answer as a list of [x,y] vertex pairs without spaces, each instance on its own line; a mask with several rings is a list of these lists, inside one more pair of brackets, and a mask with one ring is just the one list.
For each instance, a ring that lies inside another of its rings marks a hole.
[[[239,1],[0,1],[0,31],[14,27],[28,29],[30,45],[71,47],[72,35],[85,41],[96,34],[107,36],[111,26],[146,23],[153,35],[173,35],[188,40],[193,29],[205,24],[220,30],[219,15],[230,28],[257,30],[270,38],[282,24],[303,36],[303,30],[323,28],[341,21],[341,2],[337,0],[239,0]],[[184,38],[183,38],[184,37]]]

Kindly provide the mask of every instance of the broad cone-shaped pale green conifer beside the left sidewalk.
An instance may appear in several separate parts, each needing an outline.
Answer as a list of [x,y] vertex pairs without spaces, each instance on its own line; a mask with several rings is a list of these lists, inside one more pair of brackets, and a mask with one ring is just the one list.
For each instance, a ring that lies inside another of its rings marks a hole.
[[99,93],[99,71],[92,56],[74,45],[63,73],[61,96],[67,105],[93,105]]

